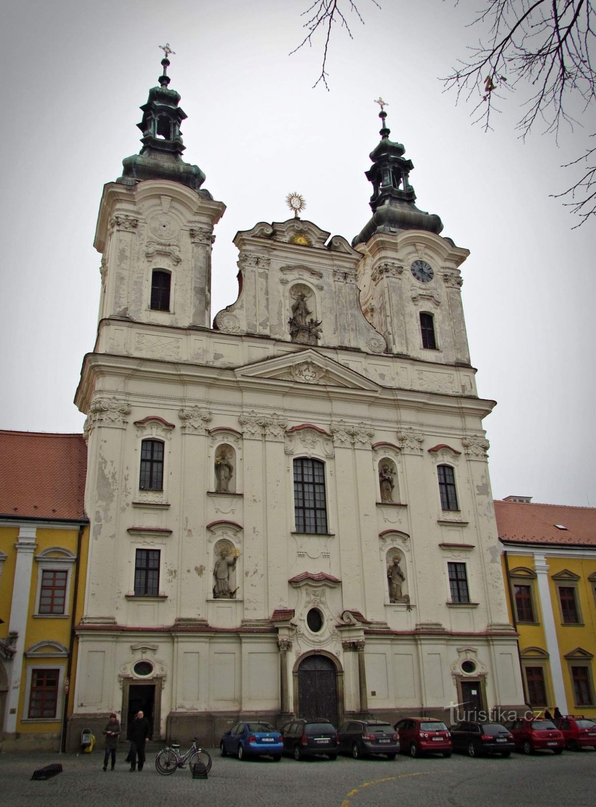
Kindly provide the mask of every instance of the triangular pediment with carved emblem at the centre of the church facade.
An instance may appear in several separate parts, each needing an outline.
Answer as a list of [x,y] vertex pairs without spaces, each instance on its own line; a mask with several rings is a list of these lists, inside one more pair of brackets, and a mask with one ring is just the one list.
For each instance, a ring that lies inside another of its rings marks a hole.
[[313,349],[287,353],[278,358],[267,359],[265,362],[238,367],[235,373],[238,379],[287,381],[325,387],[344,387],[351,390],[380,391],[378,384]]

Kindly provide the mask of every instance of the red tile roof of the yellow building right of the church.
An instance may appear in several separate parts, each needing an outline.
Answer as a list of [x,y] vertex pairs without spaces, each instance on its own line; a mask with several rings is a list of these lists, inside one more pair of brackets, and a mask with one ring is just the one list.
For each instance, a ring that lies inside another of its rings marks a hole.
[[496,501],[494,512],[502,541],[596,546],[596,508]]

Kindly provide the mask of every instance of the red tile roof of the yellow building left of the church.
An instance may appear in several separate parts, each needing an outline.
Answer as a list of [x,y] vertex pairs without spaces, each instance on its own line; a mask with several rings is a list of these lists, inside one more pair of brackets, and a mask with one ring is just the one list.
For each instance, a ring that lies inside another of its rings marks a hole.
[[0,429],[0,516],[86,519],[82,434]]

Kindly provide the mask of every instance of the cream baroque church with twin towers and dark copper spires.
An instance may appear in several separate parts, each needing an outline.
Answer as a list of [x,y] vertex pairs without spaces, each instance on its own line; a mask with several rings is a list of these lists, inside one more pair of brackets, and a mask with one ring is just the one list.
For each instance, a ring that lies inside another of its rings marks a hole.
[[[238,232],[183,161],[169,61],[141,153],[103,190],[86,413],[90,517],[70,746],[111,711],[216,743],[240,716],[523,704],[460,287],[389,139],[348,242],[296,215]],[[297,207],[300,207],[298,199]]]

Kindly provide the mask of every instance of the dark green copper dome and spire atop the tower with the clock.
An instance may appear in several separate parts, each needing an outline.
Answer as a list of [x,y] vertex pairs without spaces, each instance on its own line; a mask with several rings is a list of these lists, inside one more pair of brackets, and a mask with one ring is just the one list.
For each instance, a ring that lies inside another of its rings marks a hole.
[[418,210],[414,204],[416,194],[409,184],[413,163],[404,158],[405,148],[401,143],[389,140],[390,130],[385,126],[387,112],[381,110],[379,117],[383,123],[379,132],[381,140],[370,153],[372,165],[365,173],[373,188],[372,218],[352,240],[353,247],[365,243],[376,232],[426,230],[439,234],[443,229],[438,215]]

